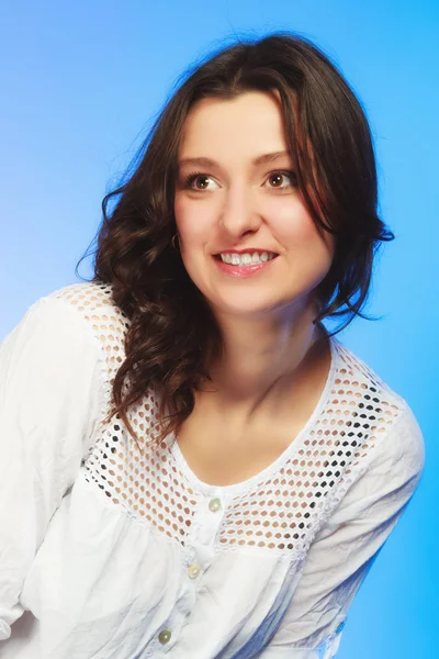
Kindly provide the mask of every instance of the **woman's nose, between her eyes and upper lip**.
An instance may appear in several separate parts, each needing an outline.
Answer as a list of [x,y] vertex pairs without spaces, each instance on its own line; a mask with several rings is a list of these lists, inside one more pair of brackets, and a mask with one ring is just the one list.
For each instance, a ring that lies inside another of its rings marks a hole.
[[255,233],[262,223],[256,209],[255,196],[244,183],[233,185],[225,196],[219,225],[229,238],[239,239],[246,233]]

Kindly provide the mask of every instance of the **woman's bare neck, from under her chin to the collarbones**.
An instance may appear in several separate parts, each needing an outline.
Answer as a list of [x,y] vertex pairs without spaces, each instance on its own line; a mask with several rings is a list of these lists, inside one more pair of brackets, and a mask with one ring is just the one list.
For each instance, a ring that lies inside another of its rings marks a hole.
[[203,392],[212,392],[212,410],[224,414],[226,409],[245,422],[262,410],[275,413],[328,350],[314,317],[314,309],[275,321],[217,316],[224,349],[207,368],[212,382],[203,387]]

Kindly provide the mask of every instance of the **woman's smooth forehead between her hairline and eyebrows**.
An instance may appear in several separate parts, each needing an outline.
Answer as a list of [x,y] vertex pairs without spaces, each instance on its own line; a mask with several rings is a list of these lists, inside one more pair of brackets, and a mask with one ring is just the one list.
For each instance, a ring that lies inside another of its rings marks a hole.
[[183,124],[179,157],[218,158],[230,149],[250,154],[285,148],[278,98],[274,93],[249,91],[234,99],[205,98],[194,103]]

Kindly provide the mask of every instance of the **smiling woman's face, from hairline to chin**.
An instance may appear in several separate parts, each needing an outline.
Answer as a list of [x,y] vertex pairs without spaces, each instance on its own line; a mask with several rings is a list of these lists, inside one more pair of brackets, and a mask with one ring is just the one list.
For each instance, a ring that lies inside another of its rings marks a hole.
[[[315,227],[286,149],[275,94],[203,99],[185,119],[177,231],[184,267],[214,312],[258,316],[308,308],[328,272],[334,238]],[[249,254],[252,265],[223,264],[218,255],[234,252]],[[254,255],[263,252],[277,256],[258,266]]]

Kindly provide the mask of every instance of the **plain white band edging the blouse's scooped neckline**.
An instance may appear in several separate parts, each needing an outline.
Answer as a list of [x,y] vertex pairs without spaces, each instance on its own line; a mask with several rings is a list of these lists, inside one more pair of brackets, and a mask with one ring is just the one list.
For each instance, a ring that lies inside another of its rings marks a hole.
[[326,406],[327,401],[329,399],[330,391],[333,389],[335,372],[336,372],[337,366],[338,366],[339,349],[338,349],[338,339],[337,338],[335,338],[334,336],[329,336],[328,340],[329,340],[329,348],[330,348],[330,366],[329,366],[328,375],[326,377],[325,387],[322,390],[320,396],[313,410],[313,413],[308,417],[307,422],[305,423],[305,425],[303,426],[301,432],[296,435],[296,437],[289,444],[289,446],[281,453],[281,455],[278,456],[278,458],[273,462],[271,462],[264,469],[262,469],[262,471],[259,471],[258,473],[250,476],[250,478],[248,478],[244,481],[239,481],[237,483],[232,483],[229,485],[214,485],[211,483],[206,483],[206,482],[202,481],[194,473],[194,471],[192,471],[191,467],[189,466],[185,457],[183,456],[183,454],[180,449],[180,446],[177,442],[176,434],[171,433],[171,435],[170,435],[171,455],[172,455],[173,460],[176,461],[178,468],[183,473],[184,478],[187,479],[187,481],[189,481],[189,483],[194,489],[194,491],[201,492],[206,495],[215,494],[217,496],[218,495],[228,495],[228,494],[240,494],[245,490],[249,490],[254,485],[267,480],[267,478],[269,478],[272,473],[274,473],[282,466],[282,463],[288,460],[288,458],[290,458],[294,453],[299,451],[299,449],[303,445],[304,440],[306,439],[306,437],[309,433],[309,429],[317,421],[317,417],[320,415],[322,410]]

